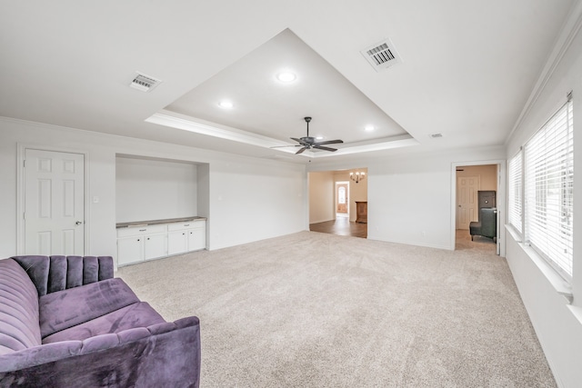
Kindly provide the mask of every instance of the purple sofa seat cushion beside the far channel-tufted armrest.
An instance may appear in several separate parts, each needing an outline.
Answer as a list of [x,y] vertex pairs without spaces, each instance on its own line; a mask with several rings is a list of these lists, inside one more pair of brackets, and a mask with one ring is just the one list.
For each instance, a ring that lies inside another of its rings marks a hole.
[[47,293],[38,302],[41,337],[138,302],[135,293],[119,278]]

